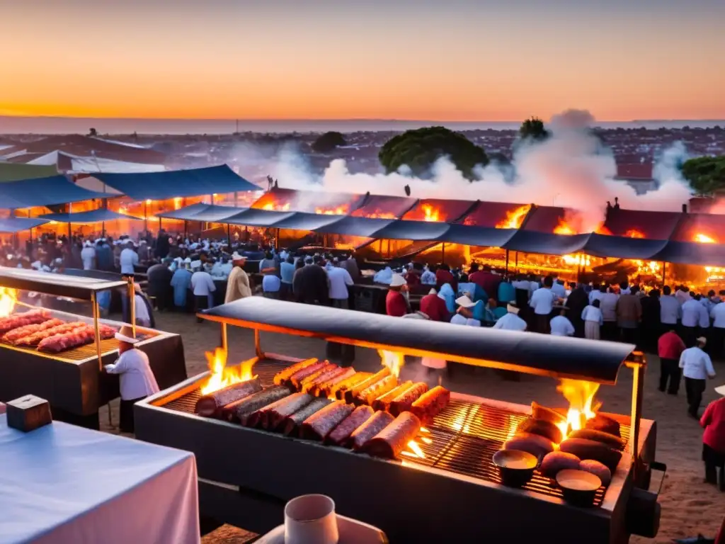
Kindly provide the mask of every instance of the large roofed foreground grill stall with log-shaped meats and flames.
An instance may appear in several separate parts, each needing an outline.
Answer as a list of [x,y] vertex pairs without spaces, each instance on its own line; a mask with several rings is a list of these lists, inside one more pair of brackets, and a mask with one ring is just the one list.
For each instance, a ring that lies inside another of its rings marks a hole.
[[[558,543],[612,544],[657,533],[658,494],[647,488],[653,469],[663,467],[655,463],[657,424],[642,419],[645,359],[631,345],[336,308],[315,307],[310,318],[308,306],[255,297],[199,316],[221,324],[212,371],[136,404],[135,419],[139,439],[195,453],[202,515],[266,532],[286,500],[322,493],[340,514],[380,527],[392,542],[535,542],[555,535]],[[225,366],[229,325],[254,329],[257,355],[239,366]],[[378,349],[383,366],[370,376],[304,353],[265,353],[261,331]],[[399,384],[405,355],[562,380],[570,406],[557,416],[563,419],[558,440],[565,440],[549,452],[571,444],[575,430],[593,430],[590,421],[608,421],[621,443],[616,453],[605,448],[608,485],[600,482],[588,508],[564,500],[540,471],[532,470],[521,487],[503,485],[492,457],[521,439],[534,404]],[[621,366],[634,372],[631,414],[598,413],[595,392],[616,383]],[[234,392],[242,396],[230,403]],[[294,411],[296,403],[302,408]],[[357,411],[368,411],[369,419],[352,426]],[[328,432],[340,413],[345,419]],[[378,421],[382,430],[365,437]],[[531,522],[512,523],[522,512]]]

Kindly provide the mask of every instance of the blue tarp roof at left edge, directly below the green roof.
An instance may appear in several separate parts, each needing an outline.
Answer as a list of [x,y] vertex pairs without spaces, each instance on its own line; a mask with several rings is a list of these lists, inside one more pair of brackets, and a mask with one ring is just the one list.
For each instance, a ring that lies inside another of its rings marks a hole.
[[[70,183],[65,176],[23,179],[0,184],[0,207],[33,207],[80,202],[115,195],[88,191]],[[19,202],[20,205],[14,205]]]

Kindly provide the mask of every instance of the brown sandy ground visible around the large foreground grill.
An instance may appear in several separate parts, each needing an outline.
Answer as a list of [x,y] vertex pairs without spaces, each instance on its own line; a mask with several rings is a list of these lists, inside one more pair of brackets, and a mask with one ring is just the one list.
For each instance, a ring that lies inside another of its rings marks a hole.
[[[194,376],[206,370],[204,351],[219,342],[219,329],[213,323],[196,323],[193,316],[177,313],[157,313],[157,328],[181,334],[186,354],[188,375]],[[228,333],[229,360],[243,360],[254,355],[254,339],[251,331],[230,327]],[[532,333],[533,334],[533,333]],[[262,334],[265,351],[294,356],[317,356],[324,358],[324,342],[314,339],[289,337],[279,334]],[[371,370],[378,368],[380,361],[373,350],[357,348],[355,368]],[[655,540],[632,537],[632,543],[670,543],[674,538],[697,535],[713,537],[725,516],[725,493],[703,483],[703,463],[700,461],[702,429],[686,413],[684,387],[677,397],[665,395],[657,390],[659,361],[655,356],[648,358],[649,366],[645,376],[644,416],[654,419],[658,425],[657,460],[667,464],[666,479],[660,495],[662,520],[660,532]],[[714,400],[715,385],[725,381],[725,364],[716,363],[718,378],[708,384],[703,406]],[[418,363],[409,363],[402,370],[402,377],[421,372]],[[597,392],[602,410],[628,414],[631,410],[631,371],[623,368],[615,386],[602,386]],[[457,392],[479,395],[513,403],[529,404],[531,400],[550,406],[565,406],[566,400],[556,392],[553,379],[538,376],[522,376],[521,382],[505,382],[488,368],[464,368],[452,379],[444,379],[444,385]],[[117,401],[112,405],[113,421],[117,425]],[[105,409],[101,409],[101,428],[118,432],[108,425]],[[653,486],[659,476],[653,476]],[[365,521],[365,520],[362,520]],[[282,520],[280,520],[282,522]],[[238,544],[249,541],[252,535],[234,527],[220,527],[210,533],[204,544]]]

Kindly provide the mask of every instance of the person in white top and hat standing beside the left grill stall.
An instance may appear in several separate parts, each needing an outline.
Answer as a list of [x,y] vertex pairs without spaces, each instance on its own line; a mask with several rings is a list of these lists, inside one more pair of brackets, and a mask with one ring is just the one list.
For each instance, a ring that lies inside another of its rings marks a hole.
[[133,433],[133,405],[139,400],[159,392],[159,384],[149,364],[149,357],[134,345],[138,339],[130,326],[124,325],[115,335],[119,358],[106,365],[108,374],[119,374],[121,390],[120,429]]

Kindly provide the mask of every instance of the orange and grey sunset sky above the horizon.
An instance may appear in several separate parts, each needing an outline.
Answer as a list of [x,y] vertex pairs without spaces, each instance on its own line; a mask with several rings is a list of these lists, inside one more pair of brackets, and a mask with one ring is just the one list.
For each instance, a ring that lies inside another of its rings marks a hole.
[[723,0],[0,0],[0,14],[0,115],[725,118]]

